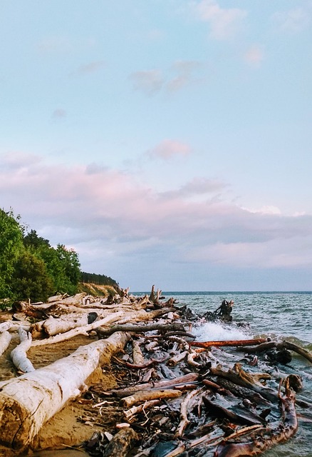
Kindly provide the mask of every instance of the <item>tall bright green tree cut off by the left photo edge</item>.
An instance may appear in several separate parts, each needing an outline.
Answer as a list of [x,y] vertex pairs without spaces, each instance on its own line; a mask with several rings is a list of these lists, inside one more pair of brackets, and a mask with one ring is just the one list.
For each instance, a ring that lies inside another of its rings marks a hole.
[[0,298],[13,295],[11,281],[16,260],[25,251],[24,228],[19,219],[14,217],[13,211],[0,209]]

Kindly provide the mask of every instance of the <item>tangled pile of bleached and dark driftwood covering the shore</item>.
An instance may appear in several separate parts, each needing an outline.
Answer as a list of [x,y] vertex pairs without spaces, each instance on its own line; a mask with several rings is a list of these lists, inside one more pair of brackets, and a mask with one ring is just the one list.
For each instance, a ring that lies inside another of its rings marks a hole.
[[[24,317],[27,317],[25,320]],[[165,301],[161,291],[135,297],[55,296],[48,303],[16,303],[0,324],[0,353],[11,334],[18,376],[0,382],[0,443],[25,450],[42,426],[70,400],[92,401],[102,423],[83,446],[93,456],[254,456],[291,438],[296,405],[311,408],[296,373],[276,370],[291,351],[312,354],[287,341],[195,341],[192,326],[203,316]],[[31,318],[33,323],[29,323]],[[96,341],[66,358],[35,369],[32,346],[96,332]],[[227,347],[227,351],[224,348]],[[123,372],[120,387],[86,385],[98,366]]]

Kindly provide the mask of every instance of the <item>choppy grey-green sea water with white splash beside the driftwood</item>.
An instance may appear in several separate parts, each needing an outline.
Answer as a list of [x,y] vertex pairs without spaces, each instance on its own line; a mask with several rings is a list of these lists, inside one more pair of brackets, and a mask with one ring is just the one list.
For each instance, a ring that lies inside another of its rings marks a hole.
[[[312,351],[312,292],[166,292],[177,306],[186,305],[195,313],[216,310],[224,299],[234,300],[233,323],[199,323],[194,326],[198,341],[249,339],[271,337],[277,341],[291,341]],[[247,326],[239,326],[246,323]],[[281,373],[297,373],[303,380],[299,395],[312,402],[312,364],[293,354],[287,366],[278,366]],[[298,431],[291,440],[262,454],[265,457],[312,457],[311,411],[296,408]]]

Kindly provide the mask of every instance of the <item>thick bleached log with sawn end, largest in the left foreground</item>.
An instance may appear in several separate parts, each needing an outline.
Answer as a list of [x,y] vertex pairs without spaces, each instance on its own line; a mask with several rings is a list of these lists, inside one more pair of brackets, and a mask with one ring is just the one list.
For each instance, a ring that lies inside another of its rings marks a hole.
[[80,395],[80,388],[95,368],[123,349],[127,333],[80,346],[71,356],[19,378],[0,382],[0,442],[25,448],[44,423]]

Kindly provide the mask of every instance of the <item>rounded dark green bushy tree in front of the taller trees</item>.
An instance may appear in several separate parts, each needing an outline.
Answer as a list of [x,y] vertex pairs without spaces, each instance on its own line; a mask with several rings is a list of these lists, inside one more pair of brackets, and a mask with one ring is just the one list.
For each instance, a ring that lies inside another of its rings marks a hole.
[[46,263],[30,251],[24,251],[16,261],[12,288],[17,300],[46,301],[53,293]]

